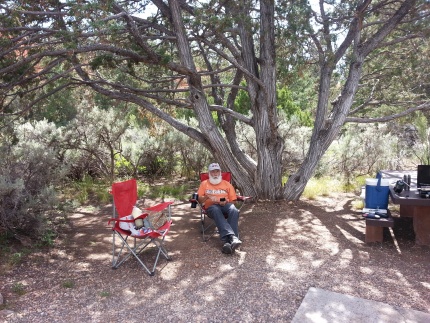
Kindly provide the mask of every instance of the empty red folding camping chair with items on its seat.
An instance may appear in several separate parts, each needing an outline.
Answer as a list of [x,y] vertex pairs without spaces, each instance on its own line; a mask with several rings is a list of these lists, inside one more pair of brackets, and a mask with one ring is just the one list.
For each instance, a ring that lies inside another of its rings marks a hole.
[[[136,207],[137,183],[135,179],[112,184],[112,268],[117,269],[134,256],[150,276],[155,273],[160,254],[171,260],[164,246],[164,238],[172,224],[170,206],[173,202],[160,203],[144,209]],[[166,214],[167,209],[167,214]],[[116,241],[118,238],[119,242]],[[131,241],[130,241],[131,240]],[[131,242],[131,243],[129,243]],[[139,255],[150,245],[158,249],[152,270]]]

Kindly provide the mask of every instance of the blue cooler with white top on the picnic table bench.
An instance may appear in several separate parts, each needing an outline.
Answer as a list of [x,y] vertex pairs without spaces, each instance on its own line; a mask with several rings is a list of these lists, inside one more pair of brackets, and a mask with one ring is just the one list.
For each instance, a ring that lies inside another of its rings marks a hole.
[[390,182],[388,179],[367,178],[364,205],[368,209],[387,209]]

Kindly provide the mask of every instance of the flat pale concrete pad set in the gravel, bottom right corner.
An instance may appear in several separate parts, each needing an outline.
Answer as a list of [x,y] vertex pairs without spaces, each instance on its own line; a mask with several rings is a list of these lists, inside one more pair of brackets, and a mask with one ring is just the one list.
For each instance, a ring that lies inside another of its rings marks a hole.
[[430,313],[309,288],[292,323],[429,323]]

